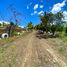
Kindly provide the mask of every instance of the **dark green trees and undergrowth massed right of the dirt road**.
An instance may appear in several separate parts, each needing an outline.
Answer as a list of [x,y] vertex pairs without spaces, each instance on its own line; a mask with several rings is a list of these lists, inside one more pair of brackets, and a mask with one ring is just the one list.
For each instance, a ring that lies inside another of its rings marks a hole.
[[47,37],[66,37],[67,36],[67,25],[64,19],[63,12],[57,14],[47,13],[40,16],[41,23],[35,26],[36,30],[40,30]]

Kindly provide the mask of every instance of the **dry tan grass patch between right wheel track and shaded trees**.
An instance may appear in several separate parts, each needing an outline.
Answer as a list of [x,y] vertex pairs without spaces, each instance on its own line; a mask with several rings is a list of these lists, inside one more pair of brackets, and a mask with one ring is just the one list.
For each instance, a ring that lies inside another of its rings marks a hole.
[[63,39],[49,38],[46,41],[60,55],[61,59],[67,63],[67,42],[66,39]]

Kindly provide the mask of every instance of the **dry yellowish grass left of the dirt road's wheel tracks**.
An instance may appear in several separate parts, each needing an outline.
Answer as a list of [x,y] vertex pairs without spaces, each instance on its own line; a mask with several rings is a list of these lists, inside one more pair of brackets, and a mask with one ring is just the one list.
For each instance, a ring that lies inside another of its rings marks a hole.
[[17,40],[20,41],[26,35],[28,35],[28,32],[18,37],[0,40],[0,67],[17,67],[17,65],[21,64],[21,50],[24,46],[21,47],[22,45],[17,44],[19,43]]

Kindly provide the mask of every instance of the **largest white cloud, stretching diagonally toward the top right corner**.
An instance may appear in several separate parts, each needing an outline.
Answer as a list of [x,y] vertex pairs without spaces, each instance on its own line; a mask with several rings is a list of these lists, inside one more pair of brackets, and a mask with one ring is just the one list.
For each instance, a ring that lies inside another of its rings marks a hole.
[[61,11],[62,7],[64,7],[66,5],[65,2],[66,2],[66,0],[64,0],[62,3],[54,4],[51,12],[52,13],[57,13],[57,12]]

